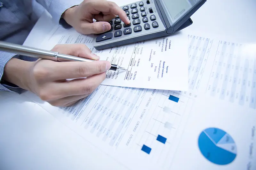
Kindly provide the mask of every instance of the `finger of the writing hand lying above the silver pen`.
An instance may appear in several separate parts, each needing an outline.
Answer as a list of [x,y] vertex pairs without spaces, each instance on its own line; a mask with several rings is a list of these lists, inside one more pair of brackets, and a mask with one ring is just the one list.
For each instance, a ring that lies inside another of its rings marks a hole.
[[100,59],[99,56],[92,54],[92,51],[85,44],[58,44],[52,48],[52,51],[92,60]]

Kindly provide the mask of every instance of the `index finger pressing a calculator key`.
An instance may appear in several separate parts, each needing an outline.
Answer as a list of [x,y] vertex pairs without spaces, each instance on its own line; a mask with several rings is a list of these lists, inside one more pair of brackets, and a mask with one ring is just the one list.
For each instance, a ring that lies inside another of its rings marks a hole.
[[126,13],[116,3],[111,1],[94,1],[92,6],[96,11],[111,12],[118,15],[125,24],[130,24],[130,20],[127,18]]

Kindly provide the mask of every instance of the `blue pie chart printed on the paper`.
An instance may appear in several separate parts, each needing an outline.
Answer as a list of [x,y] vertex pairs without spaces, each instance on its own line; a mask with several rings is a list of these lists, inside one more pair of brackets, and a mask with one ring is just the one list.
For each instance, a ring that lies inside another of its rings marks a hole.
[[217,165],[227,165],[236,158],[233,138],[218,128],[204,129],[198,137],[198,146],[203,156]]

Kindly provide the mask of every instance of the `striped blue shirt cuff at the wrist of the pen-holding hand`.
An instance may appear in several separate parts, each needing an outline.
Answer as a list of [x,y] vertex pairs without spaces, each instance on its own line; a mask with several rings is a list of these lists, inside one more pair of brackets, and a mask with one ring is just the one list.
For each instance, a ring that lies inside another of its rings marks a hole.
[[20,93],[20,87],[2,80],[4,75],[4,67],[12,58],[20,58],[19,55],[0,51],[0,91]]

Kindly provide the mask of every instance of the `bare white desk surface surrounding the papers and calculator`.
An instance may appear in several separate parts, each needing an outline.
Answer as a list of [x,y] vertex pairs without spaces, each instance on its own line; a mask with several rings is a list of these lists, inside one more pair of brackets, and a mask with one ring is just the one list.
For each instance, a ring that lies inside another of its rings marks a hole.
[[[125,1],[117,4],[123,5]],[[255,43],[255,6],[255,0],[207,0],[191,17],[193,25],[183,31],[225,41]],[[40,20],[37,24],[25,44],[40,41],[52,28]],[[113,167],[112,159],[24,95],[1,92],[0,108],[0,169],[124,169],[118,164]],[[97,156],[87,154],[90,152],[97,152],[94,154]]]

